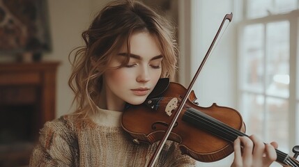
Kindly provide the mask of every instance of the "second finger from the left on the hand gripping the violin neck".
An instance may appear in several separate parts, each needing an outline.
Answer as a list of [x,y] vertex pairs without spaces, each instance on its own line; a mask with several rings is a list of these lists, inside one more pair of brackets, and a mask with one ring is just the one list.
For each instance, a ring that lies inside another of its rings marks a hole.
[[243,143],[243,165],[247,166],[252,164],[252,149],[253,149],[253,143],[252,140],[250,140],[250,138],[246,137],[246,136],[241,136],[240,138],[240,142]]

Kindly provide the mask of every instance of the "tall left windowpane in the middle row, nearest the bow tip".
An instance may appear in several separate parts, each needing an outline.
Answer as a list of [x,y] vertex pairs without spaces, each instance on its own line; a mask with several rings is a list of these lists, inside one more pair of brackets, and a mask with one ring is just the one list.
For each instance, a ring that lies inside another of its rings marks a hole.
[[264,31],[263,24],[246,26],[243,39],[244,72],[240,76],[242,88],[257,93],[263,91]]

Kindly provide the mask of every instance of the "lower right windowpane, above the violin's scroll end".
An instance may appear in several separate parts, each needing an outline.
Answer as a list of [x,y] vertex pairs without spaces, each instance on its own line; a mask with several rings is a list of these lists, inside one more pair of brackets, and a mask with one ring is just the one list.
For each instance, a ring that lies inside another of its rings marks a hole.
[[266,142],[277,141],[279,150],[289,152],[289,102],[268,97],[266,111]]

